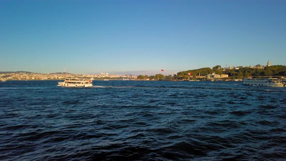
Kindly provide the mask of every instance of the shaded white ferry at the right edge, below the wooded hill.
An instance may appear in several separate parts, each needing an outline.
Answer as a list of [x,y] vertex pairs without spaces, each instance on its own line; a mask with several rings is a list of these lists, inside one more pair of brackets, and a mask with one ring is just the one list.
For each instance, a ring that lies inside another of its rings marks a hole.
[[269,87],[283,87],[286,84],[283,84],[281,80],[277,78],[247,78],[242,79],[243,85],[252,85],[252,86],[269,86]]

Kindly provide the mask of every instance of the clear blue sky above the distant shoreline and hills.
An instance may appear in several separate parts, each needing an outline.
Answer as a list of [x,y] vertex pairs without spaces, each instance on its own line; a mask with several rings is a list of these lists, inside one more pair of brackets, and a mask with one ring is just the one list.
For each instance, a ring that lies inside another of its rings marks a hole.
[[286,0],[0,0],[0,71],[148,74],[268,60],[286,65]]

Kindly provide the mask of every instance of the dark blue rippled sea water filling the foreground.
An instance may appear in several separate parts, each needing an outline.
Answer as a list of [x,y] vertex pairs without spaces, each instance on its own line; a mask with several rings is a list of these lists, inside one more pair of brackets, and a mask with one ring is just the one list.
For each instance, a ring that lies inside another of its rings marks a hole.
[[0,82],[0,160],[285,160],[286,88]]

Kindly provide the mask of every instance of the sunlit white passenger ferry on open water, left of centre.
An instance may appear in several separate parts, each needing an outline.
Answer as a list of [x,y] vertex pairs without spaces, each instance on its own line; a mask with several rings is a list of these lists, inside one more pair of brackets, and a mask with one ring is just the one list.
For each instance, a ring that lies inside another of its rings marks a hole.
[[58,82],[58,84],[62,87],[91,87],[93,86],[93,81],[79,78],[66,78],[64,81]]

